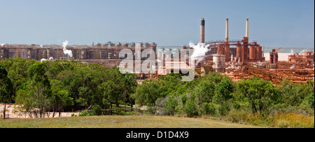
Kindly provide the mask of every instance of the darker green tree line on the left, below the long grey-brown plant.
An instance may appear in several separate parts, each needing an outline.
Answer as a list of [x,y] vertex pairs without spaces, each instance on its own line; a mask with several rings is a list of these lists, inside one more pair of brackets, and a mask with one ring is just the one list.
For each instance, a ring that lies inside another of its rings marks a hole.
[[0,61],[0,103],[18,104],[31,118],[49,117],[49,112],[55,117],[65,106],[132,106],[136,87],[134,74],[122,74],[115,67],[18,57]]

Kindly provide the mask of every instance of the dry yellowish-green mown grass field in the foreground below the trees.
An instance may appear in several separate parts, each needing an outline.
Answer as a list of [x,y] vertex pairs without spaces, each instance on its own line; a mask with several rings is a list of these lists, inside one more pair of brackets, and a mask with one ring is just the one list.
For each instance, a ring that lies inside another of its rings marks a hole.
[[248,128],[253,125],[204,118],[114,115],[73,118],[0,119],[0,128]]

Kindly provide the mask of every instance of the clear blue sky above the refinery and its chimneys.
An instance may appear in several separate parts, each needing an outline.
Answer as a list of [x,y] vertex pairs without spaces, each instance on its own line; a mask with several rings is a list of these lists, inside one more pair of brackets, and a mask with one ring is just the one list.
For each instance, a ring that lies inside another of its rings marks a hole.
[[183,46],[246,34],[266,47],[314,48],[314,0],[0,0],[0,44]]

